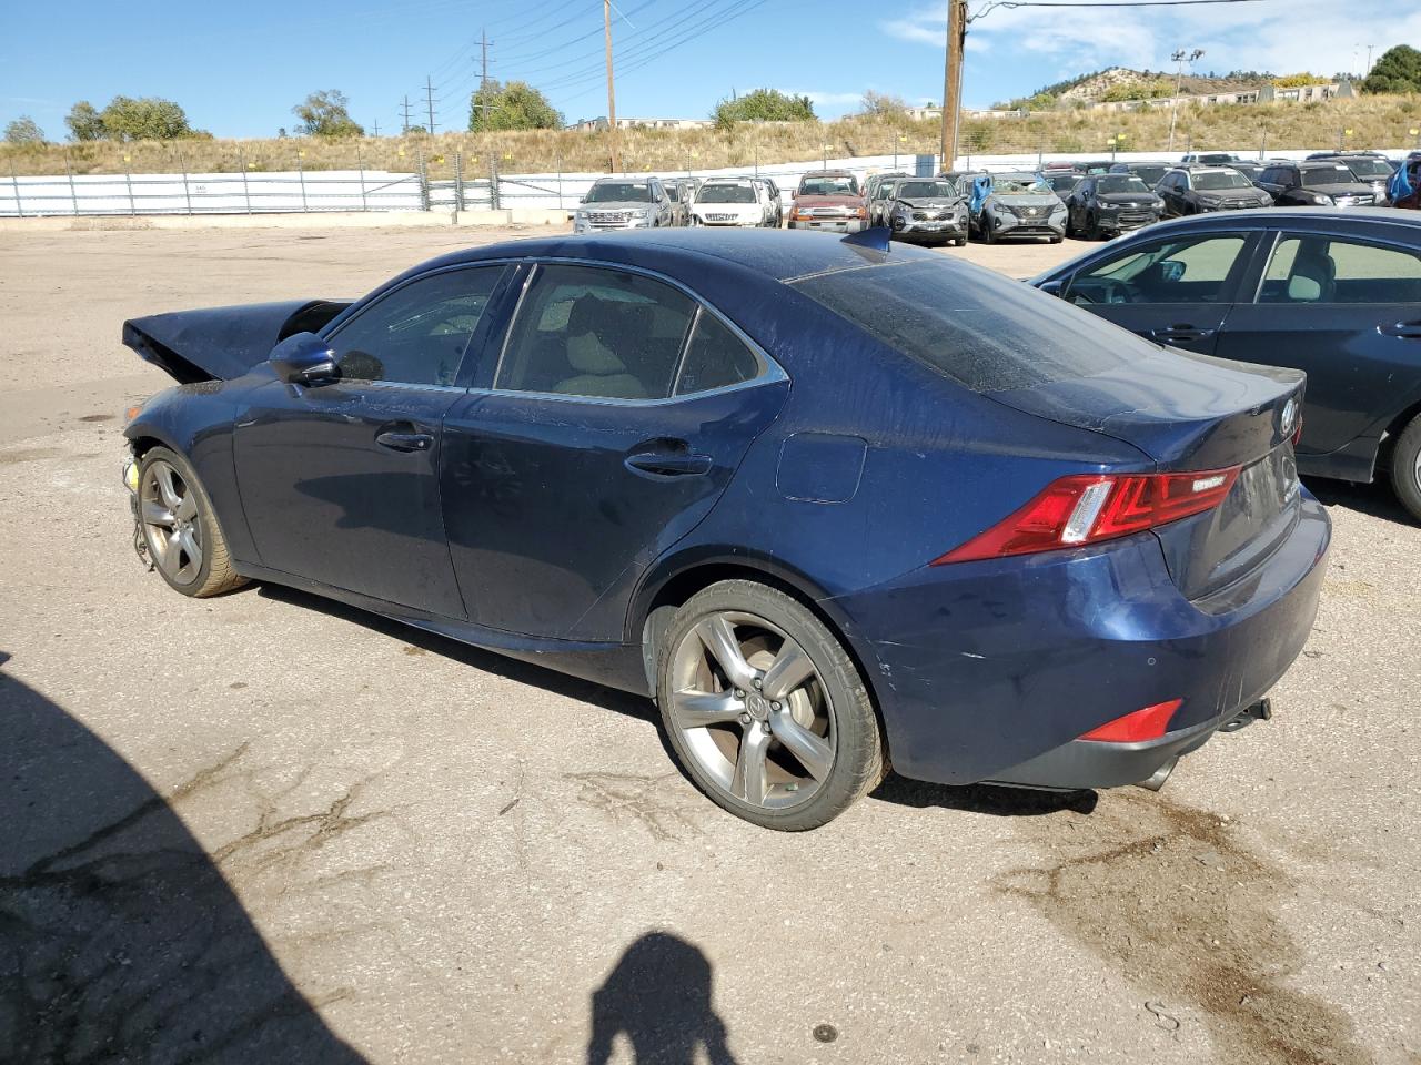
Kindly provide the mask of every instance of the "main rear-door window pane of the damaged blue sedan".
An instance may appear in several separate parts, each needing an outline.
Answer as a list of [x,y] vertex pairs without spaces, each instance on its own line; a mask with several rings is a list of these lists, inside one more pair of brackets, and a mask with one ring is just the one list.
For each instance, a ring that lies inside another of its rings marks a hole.
[[665,399],[695,302],[641,274],[540,266],[523,294],[495,388]]

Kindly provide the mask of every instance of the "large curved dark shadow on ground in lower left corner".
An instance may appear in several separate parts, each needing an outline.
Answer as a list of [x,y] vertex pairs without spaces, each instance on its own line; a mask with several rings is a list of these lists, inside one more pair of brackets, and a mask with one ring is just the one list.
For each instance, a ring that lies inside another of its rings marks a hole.
[[281,971],[169,801],[3,669],[0,751],[4,1061],[364,1061]]

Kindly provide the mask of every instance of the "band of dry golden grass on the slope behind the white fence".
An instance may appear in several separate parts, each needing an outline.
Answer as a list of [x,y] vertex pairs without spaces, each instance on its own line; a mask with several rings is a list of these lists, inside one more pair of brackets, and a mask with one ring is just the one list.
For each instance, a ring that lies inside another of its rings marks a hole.
[[[1175,151],[1258,151],[1330,148],[1341,129],[1350,148],[1414,143],[1410,129],[1421,125],[1421,97],[1361,97],[1329,104],[1265,104],[1250,106],[1198,106],[1179,111]],[[1061,111],[1029,119],[968,122],[961,155],[1108,152],[1107,138],[1124,135],[1123,151],[1164,152],[1169,132],[1168,109],[1135,114]],[[911,155],[935,152],[936,122],[853,116],[837,122],[742,125],[719,129],[630,129],[620,133],[622,166],[637,170],[753,166],[756,160],[806,162],[821,155],[887,155],[895,148]],[[827,145],[827,148],[826,148]],[[298,155],[301,153],[301,155]],[[608,166],[607,133],[529,131],[510,133],[439,133],[402,138],[321,141],[144,141],[119,145],[34,145],[0,148],[0,176],[10,168],[18,175],[64,173],[176,173],[253,170],[419,169],[421,158],[431,176],[448,178],[462,156],[466,176],[482,176],[496,165],[507,173],[601,172]]]

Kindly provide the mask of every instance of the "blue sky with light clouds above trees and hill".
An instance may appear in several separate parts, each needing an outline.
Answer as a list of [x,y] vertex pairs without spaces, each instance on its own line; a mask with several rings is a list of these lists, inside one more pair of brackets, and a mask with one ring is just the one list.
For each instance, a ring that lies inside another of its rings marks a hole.
[[[975,0],[978,11],[982,0]],[[971,106],[1106,65],[1168,65],[1202,47],[1201,70],[1323,74],[1361,68],[1398,41],[1421,44],[1421,9],[1390,0],[1260,0],[1228,6],[996,9],[968,38]],[[868,89],[909,102],[942,94],[945,3],[914,0],[617,0],[621,115],[705,116],[732,89],[809,94],[823,116]],[[11,4],[0,40],[0,122],[20,114],[51,139],[77,99],[159,95],[217,136],[270,136],[317,88],[342,89],[367,129],[399,122],[408,94],[423,122],[425,75],[436,125],[468,124],[480,27],[490,74],[544,88],[568,121],[607,111],[597,0],[71,0],[63,11]],[[63,21],[61,21],[63,20]]]

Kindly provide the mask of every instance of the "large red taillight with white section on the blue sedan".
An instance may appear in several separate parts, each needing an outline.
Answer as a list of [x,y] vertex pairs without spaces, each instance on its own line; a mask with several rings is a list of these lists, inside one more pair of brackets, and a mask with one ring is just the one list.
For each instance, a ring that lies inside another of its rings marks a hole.
[[1223,501],[1241,469],[1061,477],[932,565],[1081,547],[1201,514]]

